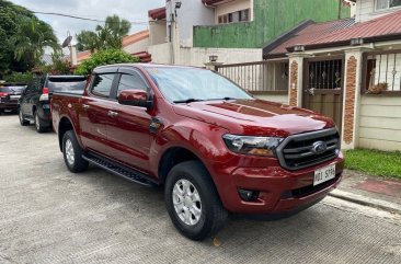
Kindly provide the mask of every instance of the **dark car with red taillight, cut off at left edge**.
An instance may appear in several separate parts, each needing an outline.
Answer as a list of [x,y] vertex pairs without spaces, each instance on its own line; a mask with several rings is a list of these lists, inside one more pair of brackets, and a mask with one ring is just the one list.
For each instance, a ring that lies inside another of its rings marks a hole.
[[25,83],[0,84],[0,113],[3,113],[4,111],[16,112],[19,108],[18,101],[25,88]]

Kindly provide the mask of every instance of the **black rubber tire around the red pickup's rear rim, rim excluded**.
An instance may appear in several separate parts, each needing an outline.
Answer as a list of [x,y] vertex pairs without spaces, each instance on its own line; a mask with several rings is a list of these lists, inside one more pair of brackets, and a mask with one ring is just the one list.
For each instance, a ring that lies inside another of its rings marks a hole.
[[[73,151],[73,162],[67,158],[67,150],[66,147],[71,144],[72,151]],[[70,172],[78,173],[85,171],[88,169],[89,162],[82,158],[83,150],[81,146],[78,144],[77,136],[73,130],[68,130],[62,137],[62,156],[64,161]]]

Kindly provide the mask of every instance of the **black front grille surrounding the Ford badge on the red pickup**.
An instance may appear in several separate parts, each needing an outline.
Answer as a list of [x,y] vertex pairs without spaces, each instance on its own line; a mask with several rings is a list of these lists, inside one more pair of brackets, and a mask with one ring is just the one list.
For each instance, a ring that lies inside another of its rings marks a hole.
[[[325,144],[324,151],[313,150],[319,141]],[[335,128],[289,136],[276,149],[280,165],[293,171],[335,159],[339,152],[340,136]]]

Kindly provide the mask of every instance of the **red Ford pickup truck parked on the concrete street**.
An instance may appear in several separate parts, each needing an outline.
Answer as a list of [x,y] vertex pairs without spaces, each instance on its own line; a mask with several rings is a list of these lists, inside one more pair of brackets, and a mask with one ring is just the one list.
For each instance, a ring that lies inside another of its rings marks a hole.
[[228,213],[308,208],[342,177],[330,118],[254,99],[210,70],[99,67],[83,95],[54,93],[51,113],[71,172],[93,163],[163,185],[172,222],[193,240],[216,233]]

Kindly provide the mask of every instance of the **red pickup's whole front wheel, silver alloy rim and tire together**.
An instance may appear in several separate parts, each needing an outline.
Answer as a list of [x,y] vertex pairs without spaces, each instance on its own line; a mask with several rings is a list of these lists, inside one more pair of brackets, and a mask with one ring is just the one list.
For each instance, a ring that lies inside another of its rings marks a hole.
[[170,171],[164,196],[172,222],[188,239],[211,237],[226,222],[228,213],[209,173],[198,161],[182,162]]

